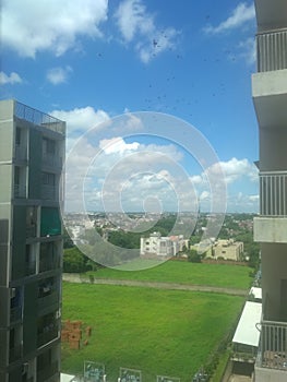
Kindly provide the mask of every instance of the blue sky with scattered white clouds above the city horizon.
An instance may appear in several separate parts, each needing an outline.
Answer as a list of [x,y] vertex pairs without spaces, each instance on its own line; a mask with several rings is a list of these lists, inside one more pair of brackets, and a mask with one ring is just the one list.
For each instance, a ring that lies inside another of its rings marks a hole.
[[0,97],[67,121],[68,211],[258,212],[253,1],[2,0]]

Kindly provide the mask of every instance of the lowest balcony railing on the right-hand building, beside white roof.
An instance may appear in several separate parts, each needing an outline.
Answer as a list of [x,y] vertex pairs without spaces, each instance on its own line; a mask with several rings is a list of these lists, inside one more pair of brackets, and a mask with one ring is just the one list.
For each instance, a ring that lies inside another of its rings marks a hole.
[[287,322],[262,321],[259,367],[287,371]]

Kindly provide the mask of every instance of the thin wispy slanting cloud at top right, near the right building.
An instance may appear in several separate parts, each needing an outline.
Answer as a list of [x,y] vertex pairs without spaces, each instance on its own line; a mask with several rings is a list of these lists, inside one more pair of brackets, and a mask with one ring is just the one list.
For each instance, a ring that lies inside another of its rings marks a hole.
[[210,34],[223,33],[241,27],[254,19],[255,9],[253,2],[250,5],[248,5],[246,2],[240,2],[227,20],[223,21],[217,26],[210,25],[205,27],[204,31]]

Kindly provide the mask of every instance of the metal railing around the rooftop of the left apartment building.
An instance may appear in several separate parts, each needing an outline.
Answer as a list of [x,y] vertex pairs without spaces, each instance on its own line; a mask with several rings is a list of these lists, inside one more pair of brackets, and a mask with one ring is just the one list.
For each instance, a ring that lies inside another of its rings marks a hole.
[[65,134],[65,123],[63,121],[39,110],[33,109],[27,105],[16,102],[14,114],[15,117],[20,119],[24,119],[25,121],[34,124],[43,126],[62,135]]

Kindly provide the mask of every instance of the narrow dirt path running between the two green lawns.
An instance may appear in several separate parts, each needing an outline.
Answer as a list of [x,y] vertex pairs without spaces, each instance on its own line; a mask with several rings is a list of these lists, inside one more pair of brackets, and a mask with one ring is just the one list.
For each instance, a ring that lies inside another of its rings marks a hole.
[[91,282],[88,278],[83,278],[79,274],[67,274],[67,273],[63,273],[62,279],[64,282],[77,283],[77,284],[123,285],[123,286],[135,286],[135,287],[157,288],[157,289],[210,291],[210,293],[235,295],[235,296],[247,296],[248,294],[248,290],[244,290],[244,289],[223,288],[223,287],[213,287],[213,286],[205,286],[205,285],[139,282],[139,280],[131,280],[131,279],[110,279],[110,278],[94,278],[94,280]]

